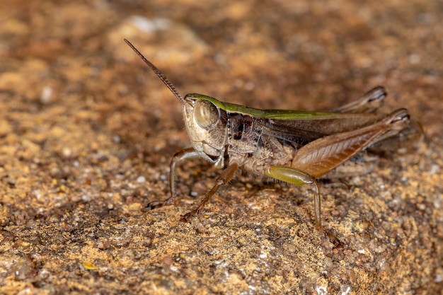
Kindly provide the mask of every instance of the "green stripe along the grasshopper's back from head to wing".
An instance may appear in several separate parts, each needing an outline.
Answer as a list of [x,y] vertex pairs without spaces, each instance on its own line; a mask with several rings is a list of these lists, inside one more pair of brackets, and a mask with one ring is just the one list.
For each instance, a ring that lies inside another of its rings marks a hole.
[[189,93],[186,98],[207,100],[226,112],[236,112],[243,115],[250,115],[254,117],[262,117],[265,119],[273,120],[321,120],[333,119],[338,117],[338,115],[343,117],[343,114],[337,114],[335,112],[308,112],[303,110],[260,110],[256,108],[249,108],[244,105],[236,105],[234,103],[223,103],[222,101],[219,101],[215,98],[198,93]]

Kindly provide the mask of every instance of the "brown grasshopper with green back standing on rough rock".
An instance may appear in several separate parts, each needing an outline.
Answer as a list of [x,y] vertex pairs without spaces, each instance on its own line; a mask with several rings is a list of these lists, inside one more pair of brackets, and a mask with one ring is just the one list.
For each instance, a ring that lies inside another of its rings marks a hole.
[[219,187],[241,168],[294,185],[311,185],[316,229],[321,231],[318,178],[334,173],[345,162],[362,161],[359,155],[366,149],[399,149],[422,134],[420,124],[410,120],[405,108],[388,115],[376,112],[386,97],[380,86],[331,112],[259,110],[196,93],[183,98],[154,64],[128,40],[125,42],[180,100],[192,144],[192,148],[179,151],[171,160],[171,197],[151,202],[146,209],[172,204],[178,197],[178,162],[205,158],[217,168],[226,166],[197,208],[180,221],[189,221],[200,213]]

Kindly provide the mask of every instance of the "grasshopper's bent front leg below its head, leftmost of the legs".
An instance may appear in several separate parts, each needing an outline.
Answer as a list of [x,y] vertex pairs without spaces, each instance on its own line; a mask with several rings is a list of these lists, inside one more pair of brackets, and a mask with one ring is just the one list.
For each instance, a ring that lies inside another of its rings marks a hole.
[[195,159],[195,158],[200,158],[200,156],[199,156],[198,152],[195,151],[192,148],[183,149],[183,151],[179,151],[177,154],[175,154],[173,156],[173,158],[171,159],[171,166],[170,166],[170,171],[169,171],[169,189],[171,191],[171,197],[168,197],[168,199],[165,199],[164,201],[150,202],[149,204],[146,205],[144,210],[148,211],[148,210],[156,209],[156,208],[159,208],[159,207],[163,207],[163,206],[168,205],[168,204],[172,204],[174,199],[176,199],[176,197],[177,197],[177,192],[176,192],[176,165],[180,161],[192,160],[192,159]]

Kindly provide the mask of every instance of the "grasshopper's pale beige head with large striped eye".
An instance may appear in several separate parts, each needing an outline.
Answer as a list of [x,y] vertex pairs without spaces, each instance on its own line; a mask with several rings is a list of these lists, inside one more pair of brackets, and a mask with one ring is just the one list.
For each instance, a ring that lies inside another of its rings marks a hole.
[[183,119],[195,151],[222,168],[227,138],[223,103],[209,96],[188,94],[183,104]]

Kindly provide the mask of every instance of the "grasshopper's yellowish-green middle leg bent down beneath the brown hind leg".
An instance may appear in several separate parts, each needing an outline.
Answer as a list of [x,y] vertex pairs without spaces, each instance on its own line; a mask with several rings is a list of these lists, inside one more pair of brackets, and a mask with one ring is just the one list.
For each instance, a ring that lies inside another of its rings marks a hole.
[[316,229],[321,231],[321,201],[320,201],[320,189],[316,178],[296,168],[288,166],[270,166],[265,171],[265,175],[282,180],[285,183],[291,183],[292,185],[312,185],[314,190],[313,196],[313,208],[316,216]]

